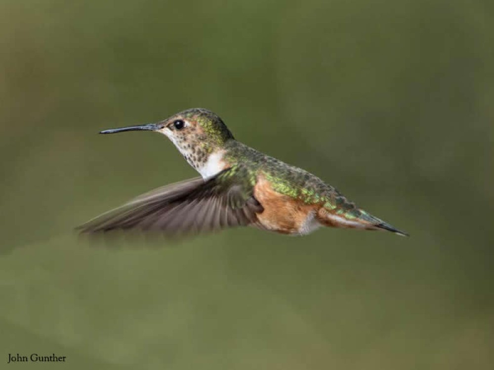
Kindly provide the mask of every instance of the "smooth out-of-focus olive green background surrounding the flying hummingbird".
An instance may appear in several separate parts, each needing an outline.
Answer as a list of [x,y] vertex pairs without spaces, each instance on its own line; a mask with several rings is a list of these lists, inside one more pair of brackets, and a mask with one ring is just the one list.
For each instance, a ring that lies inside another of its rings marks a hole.
[[[492,1],[2,0],[0,364],[492,369],[493,39]],[[412,236],[78,238],[196,176],[97,132],[192,107]]]

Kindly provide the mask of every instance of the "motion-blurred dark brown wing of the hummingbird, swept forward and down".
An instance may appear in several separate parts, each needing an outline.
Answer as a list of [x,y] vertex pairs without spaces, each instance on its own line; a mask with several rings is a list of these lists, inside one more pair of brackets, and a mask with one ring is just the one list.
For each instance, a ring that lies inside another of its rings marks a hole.
[[206,182],[195,178],[140,195],[78,228],[83,233],[140,229],[167,235],[194,234],[255,223],[263,208],[249,182],[238,182],[239,167]]

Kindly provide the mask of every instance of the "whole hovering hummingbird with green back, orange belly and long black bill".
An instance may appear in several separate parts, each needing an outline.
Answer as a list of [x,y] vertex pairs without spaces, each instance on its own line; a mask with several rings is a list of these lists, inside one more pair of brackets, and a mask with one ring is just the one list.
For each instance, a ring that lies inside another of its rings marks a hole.
[[79,226],[82,233],[138,229],[176,237],[248,225],[288,235],[331,226],[408,236],[317,176],[235,140],[212,111],[193,108],[100,134],[137,130],[165,135],[201,176],[142,194]]

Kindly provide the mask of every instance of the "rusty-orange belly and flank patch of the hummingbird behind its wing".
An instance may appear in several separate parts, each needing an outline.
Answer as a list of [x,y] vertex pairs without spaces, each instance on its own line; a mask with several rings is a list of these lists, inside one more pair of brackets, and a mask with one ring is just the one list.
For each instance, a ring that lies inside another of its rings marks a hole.
[[257,223],[261,228],[283,234],[305,235],[321,226],[316,218],[317,206],[278,193],[262,177],[254,186],[254,197],[264,208],[257,214]]

